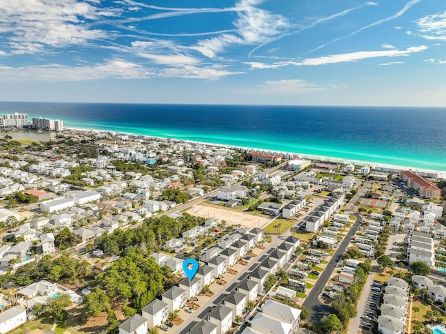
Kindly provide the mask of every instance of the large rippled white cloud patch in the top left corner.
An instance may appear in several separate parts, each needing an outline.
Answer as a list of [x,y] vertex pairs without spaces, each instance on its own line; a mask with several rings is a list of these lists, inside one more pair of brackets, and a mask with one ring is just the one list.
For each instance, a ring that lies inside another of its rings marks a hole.
[[86,45],[107,38],[105,31],[86,21],[119,13],[76,0],[2,0],[0,32],[8,40],[8,54],[34,54],[45,46]]

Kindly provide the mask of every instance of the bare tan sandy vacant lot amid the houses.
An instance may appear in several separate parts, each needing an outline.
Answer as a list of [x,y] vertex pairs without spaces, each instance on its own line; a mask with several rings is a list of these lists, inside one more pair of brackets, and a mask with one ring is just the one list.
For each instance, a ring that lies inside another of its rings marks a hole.
[[233,211],[226,208],[211,206],[206,204],[197,204],[187,210],[191,215],[197,215],[203,218],[215,218],[217,221],[224,220],[229,225],[240,224],[243,227],[262,227],[270,222],[271,218],[265,216],[250,215],[241,211]]

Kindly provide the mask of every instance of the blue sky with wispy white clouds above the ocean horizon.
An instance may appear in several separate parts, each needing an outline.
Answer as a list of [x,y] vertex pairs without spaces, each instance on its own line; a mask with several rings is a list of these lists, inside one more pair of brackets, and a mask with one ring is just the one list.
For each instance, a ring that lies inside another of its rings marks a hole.
[[0,100],[446,106],[446,3],[1,0]]

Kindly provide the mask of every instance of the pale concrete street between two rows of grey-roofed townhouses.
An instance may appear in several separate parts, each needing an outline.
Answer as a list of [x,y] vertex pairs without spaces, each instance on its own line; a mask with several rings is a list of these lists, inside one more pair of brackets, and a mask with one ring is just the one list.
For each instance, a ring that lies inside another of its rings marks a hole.
[[192,321],[197,322],[201,319],[204,319],[205,315],[209,312],[213,306],[219,304],[222,301],[222,298],[224,298],[223,294],[229,294],[233,288],[236,286],[236,283],[240,280],[243,280],[248,272],[253,271],[261,262],[266,259],[266,255],[271,250],[274,250],[277,248],[278,245],[282,243],[282,240],[277,238],[276,236],[272,236],[272,243],[264,243],[263,245],[266,246],[264,250],[261,250],[261,252],[257,252],[256,261],[251,264],[248,268],[248,266],[245,266],[243,268],[243,271],[239,271],[236,275],[229,280],[225,287],[226,289],[222,289],[215,293],[212,297],[210,297],[205,303],[200,305],[199,310],[197,310],[197,313],[192,314],[189,318],[185,319],[183,324],[180,324],[177,328],[175,328],[175,333],[182,333],[185,334],[189,331],[190,327],[193,326]]

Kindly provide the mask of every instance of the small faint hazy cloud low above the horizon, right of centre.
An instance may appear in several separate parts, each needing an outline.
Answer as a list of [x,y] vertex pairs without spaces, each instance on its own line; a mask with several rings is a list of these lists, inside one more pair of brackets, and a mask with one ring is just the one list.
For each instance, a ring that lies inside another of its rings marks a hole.
[[253,93],[287,96],[295,94],[316,93],[325,91],[325,87],[317,86],[300,79],[267,81],[256,87]]

